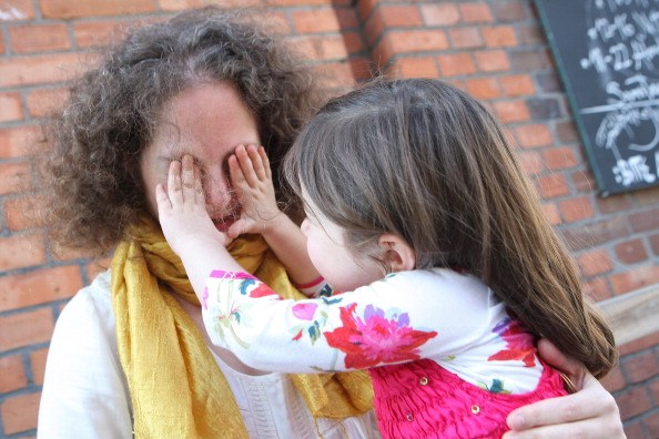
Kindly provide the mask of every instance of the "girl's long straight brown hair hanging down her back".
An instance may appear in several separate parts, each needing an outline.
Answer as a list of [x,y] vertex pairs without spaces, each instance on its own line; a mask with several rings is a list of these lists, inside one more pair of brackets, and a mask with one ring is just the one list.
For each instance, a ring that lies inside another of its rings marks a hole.
[[435,80],[376,81],[328,102],[285,165],[351,251],[395,233],[417,268],[467,268],[596,377],[614,367],[611,330],[500,125],[468,94]]

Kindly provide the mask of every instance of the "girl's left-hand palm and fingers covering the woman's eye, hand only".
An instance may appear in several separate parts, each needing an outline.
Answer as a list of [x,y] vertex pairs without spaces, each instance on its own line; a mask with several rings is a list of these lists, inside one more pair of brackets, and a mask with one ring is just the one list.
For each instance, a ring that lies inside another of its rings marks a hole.
[[230,241],[206,212],[200,172],[190,155],[170,164],[168,191],[159,184],[155,200],[162,232],[179,256],[195,254],[210,243],[224,246]]

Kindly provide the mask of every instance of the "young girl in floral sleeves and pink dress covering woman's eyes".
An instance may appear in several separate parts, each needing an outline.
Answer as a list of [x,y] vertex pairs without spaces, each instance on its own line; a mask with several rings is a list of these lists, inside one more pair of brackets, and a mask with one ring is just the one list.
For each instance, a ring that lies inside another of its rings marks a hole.
[[[267,180],[250,150],[251,161],[230,161],[243,198]],[[335,99],[285,170],[305,203],[308,257],[341,294],[284,300],[244,273],[205,213],[190,157],[172,163],[169,195],[156,190],[211,339],[246,365],[368,369],[389,438],[500,437],[513,409],[564,395],[537,336],[596,376],[614,366],[612,334],[584,300],[499,124],[464,92],[399,80]]]

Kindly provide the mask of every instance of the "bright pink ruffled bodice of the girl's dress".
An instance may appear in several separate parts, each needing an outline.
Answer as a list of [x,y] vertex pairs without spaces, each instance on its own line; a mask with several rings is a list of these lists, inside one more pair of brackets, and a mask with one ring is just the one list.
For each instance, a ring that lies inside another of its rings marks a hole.
[[493,394],[430,359],[371,369],[384,438],[500,438],[514,409],[564,396],[560,375],[544,365],[534,391]]

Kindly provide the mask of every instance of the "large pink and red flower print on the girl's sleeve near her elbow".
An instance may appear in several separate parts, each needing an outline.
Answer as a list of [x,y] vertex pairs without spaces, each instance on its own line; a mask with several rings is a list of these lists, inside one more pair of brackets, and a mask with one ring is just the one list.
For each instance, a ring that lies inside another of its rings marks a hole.
[[384,310],[366,306],[364,318],[355,315],[357,304],[339,307],[343,326],[324,333],[327,344],[346,354],[345,367],[365,369],[381,363],[403,363],[419,358],[418,347],[437,335],[409,326],[407,313],[385,316]]

